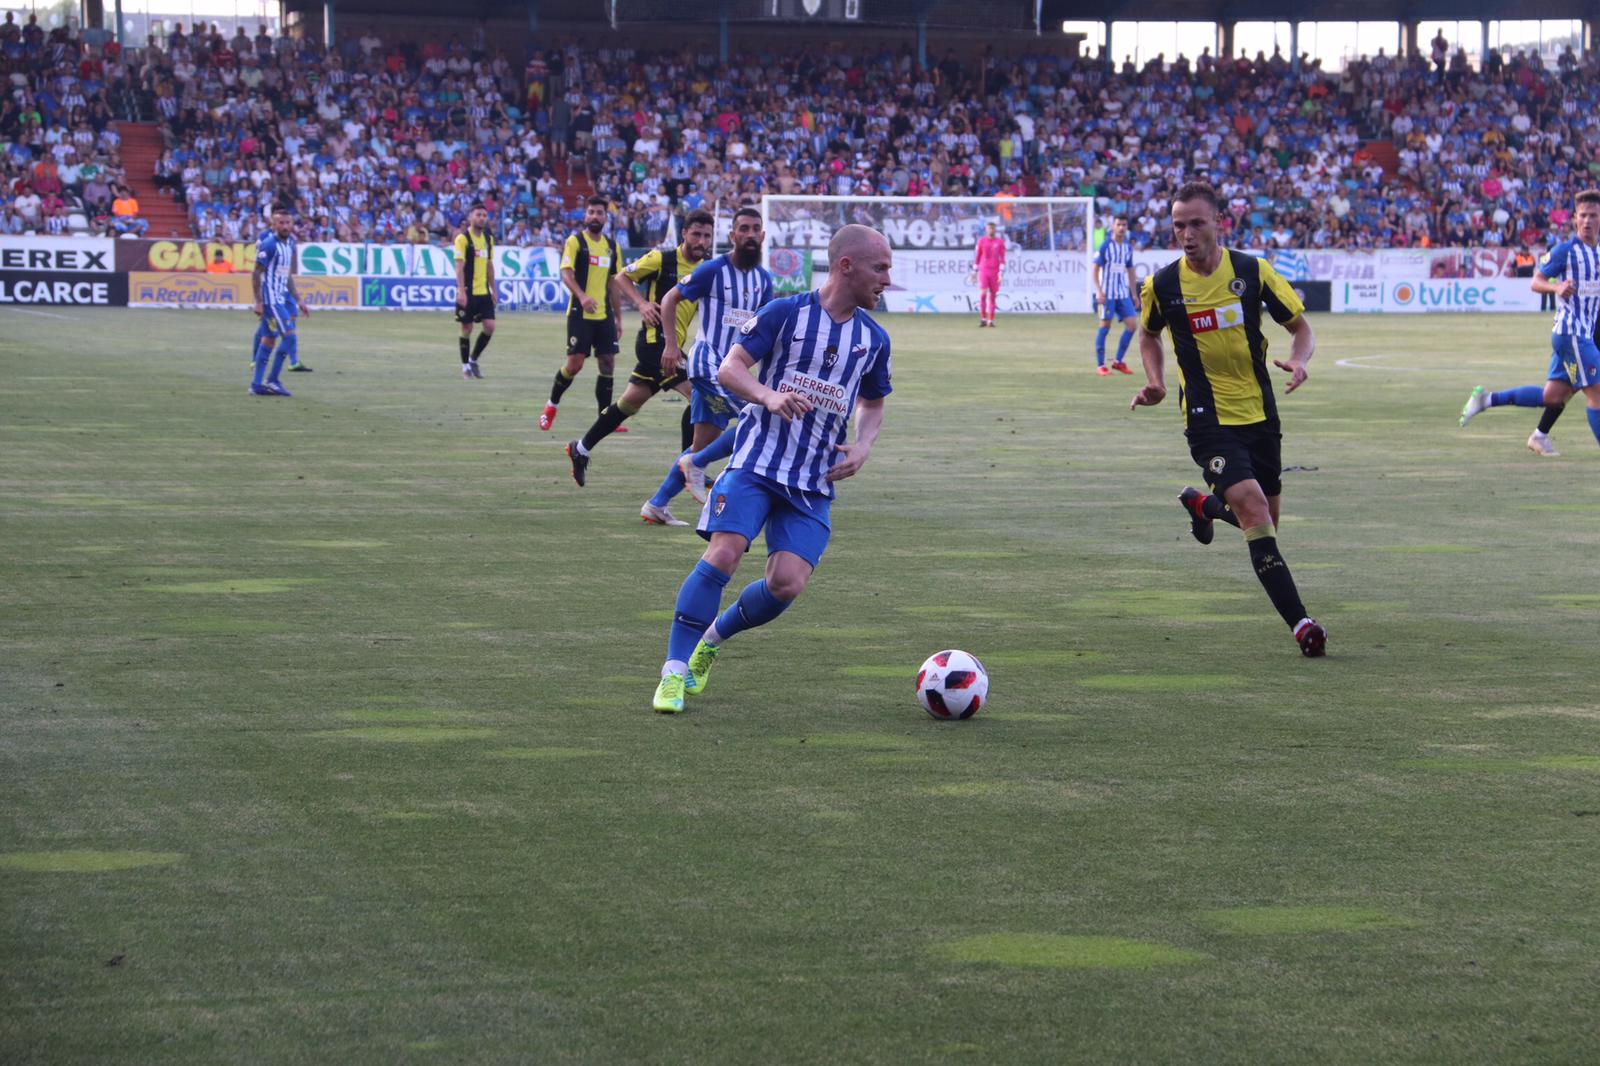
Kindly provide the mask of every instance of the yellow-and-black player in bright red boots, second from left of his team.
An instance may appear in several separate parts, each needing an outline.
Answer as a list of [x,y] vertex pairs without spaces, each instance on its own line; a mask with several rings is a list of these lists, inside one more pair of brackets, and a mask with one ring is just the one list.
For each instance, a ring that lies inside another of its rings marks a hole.
[[584,227],[562,246],[562,283],[566,301],[566,362],[555,371],[550,402],[539,413],[539,429],[555,424],[562,394],[582,373],[584,360],[595,357],[595,400],[600,411],[611,407],[611,376],[616,373],[618,336],[622,333],[622,309],[611,299],[611,275],[622,269],[616,240],[605,235],[611,202],[589,197],[584,205]]

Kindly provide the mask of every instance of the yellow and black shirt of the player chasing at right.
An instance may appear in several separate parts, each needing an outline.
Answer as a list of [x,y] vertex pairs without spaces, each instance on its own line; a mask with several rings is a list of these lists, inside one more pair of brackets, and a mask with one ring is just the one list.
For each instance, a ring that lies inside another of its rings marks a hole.
[[1227,248],[1218,269],[1202,275],[1179,259],[1147,277],[1141,296],[1144,328],[1173,335],[1187,426],[1277,418],[1261,309],[1288,325],[1306,306],[1270,262]]

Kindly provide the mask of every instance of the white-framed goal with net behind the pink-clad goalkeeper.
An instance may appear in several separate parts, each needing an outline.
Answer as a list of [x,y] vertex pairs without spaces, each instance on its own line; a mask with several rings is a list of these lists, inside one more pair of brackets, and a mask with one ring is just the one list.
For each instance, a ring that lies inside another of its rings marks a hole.
[[894,251],[883,311],[978,314],[973,250],[994,222],[1005,238],[1002,314],[1088,314],[1094,285],[1091,197],[811,197],[762,200],[766,266],[779,293],[827,277],[827,240],[848,222],[870,226]]

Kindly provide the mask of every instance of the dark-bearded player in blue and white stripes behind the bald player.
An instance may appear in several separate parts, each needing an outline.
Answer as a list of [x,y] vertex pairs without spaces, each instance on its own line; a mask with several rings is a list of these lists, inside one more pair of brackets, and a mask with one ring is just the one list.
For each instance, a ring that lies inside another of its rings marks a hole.
[[[766,238],[762,213],[742,206],[733,213],[733,248],[694,267],[685,280],[661,301],[662,322],[677,317],[678,301],[699,303],[699,336],[688,351],[690,421],[694,439],[678,456],[656,495],[638,509],[638,517],[653,525],[688,525],[667,504],[685,485],[696,501],[706,503],[706,467],[733,453],[733,421],[736,403],[717,383],[717,370],[739,336],[739,328],[755,317],[773,298],[773,275],[762,266],[762,242]],[[674,373],[685,363],[678,338],[666,335],[661,370]]]

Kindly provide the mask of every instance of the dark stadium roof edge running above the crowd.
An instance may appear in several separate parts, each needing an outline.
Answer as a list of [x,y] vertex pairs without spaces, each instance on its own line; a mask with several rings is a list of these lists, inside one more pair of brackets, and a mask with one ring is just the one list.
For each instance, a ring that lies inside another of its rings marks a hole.
[[[797,10],[802,0],[336,0],[339,16],[411,16],[512,19],[525,22],[536,8],[541,26],[602,29],[613,14],[619,29],[648,22],[714,24],[726,10],[739,24],[774,21],[774,6]],[[1064,21],[1117,22],[1243,22],[1243,21],[1477,21],[1477,19],[1600,19],[1600,0],[1322,0],[1307,10],[1288,0],[859,0],[864,27],[914,26],[987,29],[995,35],[1032,32],[1035,18],[1046,29]],[[291,11],[320,13],[322,0],[286,0]],[[794,22],[794,21],[790,21]],[[819,34],[848,22],[800,22]]]

